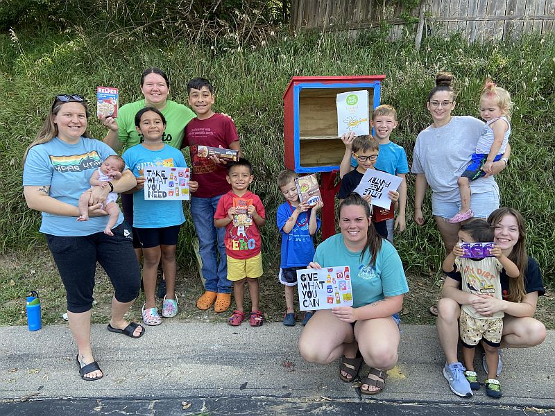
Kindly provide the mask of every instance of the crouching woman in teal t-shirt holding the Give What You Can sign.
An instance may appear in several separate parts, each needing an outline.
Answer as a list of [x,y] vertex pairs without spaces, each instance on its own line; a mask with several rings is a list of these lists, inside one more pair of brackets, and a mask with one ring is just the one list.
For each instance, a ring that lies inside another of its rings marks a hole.
[[357,193],[339,205],[339,226],[341,234],[318,245],[309,267],[349,266],[353,306],[317,311],[301,333],[300,354],[321,364],[341,357],[345,382],[354,381],[365,362],[370,372],[361,379],[361,393],[376,395],[397,363],[398,312],[409,286],[399,254],[377,234],[370,207]]

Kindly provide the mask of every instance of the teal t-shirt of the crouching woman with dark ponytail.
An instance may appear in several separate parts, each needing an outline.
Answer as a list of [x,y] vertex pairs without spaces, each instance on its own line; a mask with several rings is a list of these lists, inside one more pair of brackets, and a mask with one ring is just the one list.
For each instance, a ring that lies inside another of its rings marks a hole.
[[382,239],[375,266],[370,266],[370,252],[350,252],[345,247],[342,234],[335,234],[316,248],[314,261],[322,267],[349,266],[351,270],[352,306],[367,304],[402,295],[409,291],[407,277],[397,250],[389,241]]

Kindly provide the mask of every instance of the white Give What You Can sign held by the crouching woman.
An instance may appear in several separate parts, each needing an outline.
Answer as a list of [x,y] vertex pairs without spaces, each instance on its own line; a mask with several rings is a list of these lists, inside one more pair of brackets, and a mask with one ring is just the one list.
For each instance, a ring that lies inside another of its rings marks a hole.
[[349,266],[297,270],[301,311],[352,306]]

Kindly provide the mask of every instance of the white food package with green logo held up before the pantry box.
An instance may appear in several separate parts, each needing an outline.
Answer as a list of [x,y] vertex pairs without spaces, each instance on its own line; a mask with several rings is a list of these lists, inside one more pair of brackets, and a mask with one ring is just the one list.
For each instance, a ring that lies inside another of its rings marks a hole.
[[337,94],[337,135],[354,132],[355,135],[370,134],[370,103],[368,90]]

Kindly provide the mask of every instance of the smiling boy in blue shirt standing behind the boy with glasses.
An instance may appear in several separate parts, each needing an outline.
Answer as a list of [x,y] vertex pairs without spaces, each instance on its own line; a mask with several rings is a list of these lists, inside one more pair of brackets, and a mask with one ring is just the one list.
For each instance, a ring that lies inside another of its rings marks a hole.
[[[393,229],[403,232],[407,227],[405,216],[407,210],[407,179],[405,175],[409,173],[409,163],[404,148],[390,140],[391,133],[398,125],[395,108],[387,104],[376,107],[372,113],[371,125],[374,128],[374,137],[379,143],[379,157],[375,163],[375,168],[378,171],[384,171],[402,178],[399,186],[399,211],[397,218],[395,218],[395,224],[393,220],[387,220],[386,224],[387,238],[393,243]],[[353,139],[355,139],[355,135],[341,137],[345,144],[345,155],[339,168],[341,178],[357,166],[356,159],[352,158]]]

